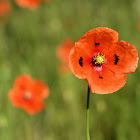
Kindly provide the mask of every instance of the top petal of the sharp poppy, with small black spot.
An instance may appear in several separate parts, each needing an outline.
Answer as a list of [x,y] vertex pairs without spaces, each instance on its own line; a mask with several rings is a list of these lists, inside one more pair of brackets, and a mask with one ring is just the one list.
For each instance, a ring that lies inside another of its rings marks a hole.
[[90,49],[94,48],[94,51],[98,50],[99,52],[101,51],[101,53],[105,53],[118,39],[119,35],[116,31],[107,27],[98,27],[84,34],[79,39],[79,42],[85,46],[89,46]]

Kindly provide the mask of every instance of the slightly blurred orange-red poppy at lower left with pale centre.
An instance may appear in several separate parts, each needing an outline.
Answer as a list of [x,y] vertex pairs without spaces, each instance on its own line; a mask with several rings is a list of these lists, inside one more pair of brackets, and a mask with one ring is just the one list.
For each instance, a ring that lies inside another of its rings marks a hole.
[[29,114],[40,112],[44,107],[44,99],[48,97],[48,87],[38,80],[32,80],[29,75],[16,78],[14,88],[9,91],[9,99],[18,108]]

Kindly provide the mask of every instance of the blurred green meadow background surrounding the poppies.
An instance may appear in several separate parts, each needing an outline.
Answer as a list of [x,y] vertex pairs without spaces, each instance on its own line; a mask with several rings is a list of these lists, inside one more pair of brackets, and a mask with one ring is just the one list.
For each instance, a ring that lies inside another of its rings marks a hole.
[[[35,10],[12,1],[0,25],[0,140],[86,140],[87,83],[58,73],[56,49],[67,37],[77,41],[99,26],[119,33],[140,52],[139,0],[52,0]],[[8,91],[23,73],[50,88],[44,110],[28,115],[12,106]],[[91,94],[91,140],[140,139],[140,72],[110,95]]]

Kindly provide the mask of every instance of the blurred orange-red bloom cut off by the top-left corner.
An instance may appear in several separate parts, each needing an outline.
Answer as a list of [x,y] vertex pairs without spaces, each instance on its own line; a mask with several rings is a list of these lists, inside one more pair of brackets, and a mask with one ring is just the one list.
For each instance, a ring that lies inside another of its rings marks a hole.
[[0,0],[0,17],[6,17],[11,10],[11,5],[6,0]]

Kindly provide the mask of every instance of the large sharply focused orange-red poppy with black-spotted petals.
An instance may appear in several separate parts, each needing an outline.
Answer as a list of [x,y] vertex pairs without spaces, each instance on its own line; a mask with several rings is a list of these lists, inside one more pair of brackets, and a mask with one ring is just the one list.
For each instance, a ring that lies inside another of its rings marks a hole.
[[90,30],[82,36],[69,55],[72,72],[86,79],[93,93],[108,94],[122,88],[126,74],[135,71],[138,52],[118,33],[106,27]]

